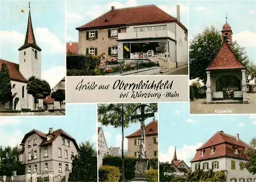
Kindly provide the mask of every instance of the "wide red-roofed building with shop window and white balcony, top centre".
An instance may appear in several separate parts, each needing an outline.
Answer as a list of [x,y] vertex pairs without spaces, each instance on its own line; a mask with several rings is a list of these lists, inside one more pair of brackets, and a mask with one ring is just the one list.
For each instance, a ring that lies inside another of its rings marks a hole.
[[[155,5],[111,10],[79,31],[78,53],[101,55],[103,59],[148,58],[165,67],[188,62],[187,29],[177,18]],[[143,18],[141,18],[143,16]],[[161,59],[160,59],[161,58]]]

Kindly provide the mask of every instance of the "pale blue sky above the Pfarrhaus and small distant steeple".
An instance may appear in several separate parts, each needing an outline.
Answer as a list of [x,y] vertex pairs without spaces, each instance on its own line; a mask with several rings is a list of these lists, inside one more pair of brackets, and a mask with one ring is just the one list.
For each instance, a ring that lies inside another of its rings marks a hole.
[[190,166],[196,149],[217,131],[249,144],[256,137],[256,115],[189,116],[189,103],[159,103],[159,161],[171,162],[176,146],[178,160]]

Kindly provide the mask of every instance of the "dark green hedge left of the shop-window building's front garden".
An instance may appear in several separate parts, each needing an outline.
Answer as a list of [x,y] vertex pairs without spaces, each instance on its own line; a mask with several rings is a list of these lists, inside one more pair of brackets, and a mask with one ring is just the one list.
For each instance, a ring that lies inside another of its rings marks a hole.
[[67,76],[94,76],[99,64],[99,56],[67,55]]

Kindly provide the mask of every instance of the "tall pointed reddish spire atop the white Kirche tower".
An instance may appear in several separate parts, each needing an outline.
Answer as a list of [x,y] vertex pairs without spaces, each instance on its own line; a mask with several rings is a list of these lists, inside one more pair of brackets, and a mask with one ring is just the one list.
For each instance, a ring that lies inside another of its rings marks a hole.
[[38,47],[35,41],[35,35],[32,27],[32,20],[31,20],[31,13],[30,13],[30,2],[29,2],[29,18],[28,18],[27,33],[26,33],[24,44],[18,50],[20,51],[28,47],[33,47],[36,50],[41,51],[41,49]]

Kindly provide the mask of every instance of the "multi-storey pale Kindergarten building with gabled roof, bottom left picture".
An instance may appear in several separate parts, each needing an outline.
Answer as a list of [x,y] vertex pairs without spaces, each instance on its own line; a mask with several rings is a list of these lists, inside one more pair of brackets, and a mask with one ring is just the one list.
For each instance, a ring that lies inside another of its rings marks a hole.
[[51,173],[62,178],[71,170],[77,149],[75,139],[61,129],[49,128],[48,133],[33,129],[20,144],[19,161],[25,164],[26,175]]

